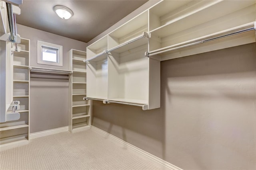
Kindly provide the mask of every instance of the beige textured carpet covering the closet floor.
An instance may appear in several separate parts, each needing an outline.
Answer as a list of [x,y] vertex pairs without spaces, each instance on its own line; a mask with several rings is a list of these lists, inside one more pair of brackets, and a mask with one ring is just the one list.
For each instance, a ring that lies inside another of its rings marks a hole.
[[1,170],[161,169],[132,151],[88,130],[32,139],[0,152]]

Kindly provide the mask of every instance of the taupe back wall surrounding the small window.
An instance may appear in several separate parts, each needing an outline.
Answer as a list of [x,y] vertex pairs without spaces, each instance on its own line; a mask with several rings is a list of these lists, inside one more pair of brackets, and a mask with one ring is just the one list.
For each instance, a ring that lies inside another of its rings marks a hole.
[[[17,24],[18,34],[30,39],[30,66],[68,70],[68,51],[86,51],[86,43]],[[37,40],[63,46],[63,66],[37,64]],[[51,74],[30,78],[30,133],[68,126],[68,80]]]

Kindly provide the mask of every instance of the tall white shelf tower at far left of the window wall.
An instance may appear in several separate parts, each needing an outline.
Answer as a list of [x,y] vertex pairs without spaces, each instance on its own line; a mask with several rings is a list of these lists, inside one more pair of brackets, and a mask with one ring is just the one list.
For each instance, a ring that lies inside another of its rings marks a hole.
[[[30,40],[21,38],[13,51],[13,101],[20,101],[20,119],[0,123],[0,147],[28,143],[30,125]],[[7,113],[11,113],[12,108]]]

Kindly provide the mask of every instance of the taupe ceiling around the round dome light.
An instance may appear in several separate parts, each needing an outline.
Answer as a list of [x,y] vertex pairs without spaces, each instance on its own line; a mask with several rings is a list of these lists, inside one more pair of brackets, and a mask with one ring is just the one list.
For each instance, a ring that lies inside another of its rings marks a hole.
[[[16,22],[64,37],[88,42],[148,0],[23,0]],[[56,5],[70,8],[74,16],[63,20]]]

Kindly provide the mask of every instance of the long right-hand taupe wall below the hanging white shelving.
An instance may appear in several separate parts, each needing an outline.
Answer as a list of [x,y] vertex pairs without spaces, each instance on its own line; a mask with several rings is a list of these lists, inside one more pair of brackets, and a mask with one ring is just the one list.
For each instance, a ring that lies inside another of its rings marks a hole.
[[161,62],[161,108],[94,102],[92,125],[180,168],[256,169],[256,43]]

